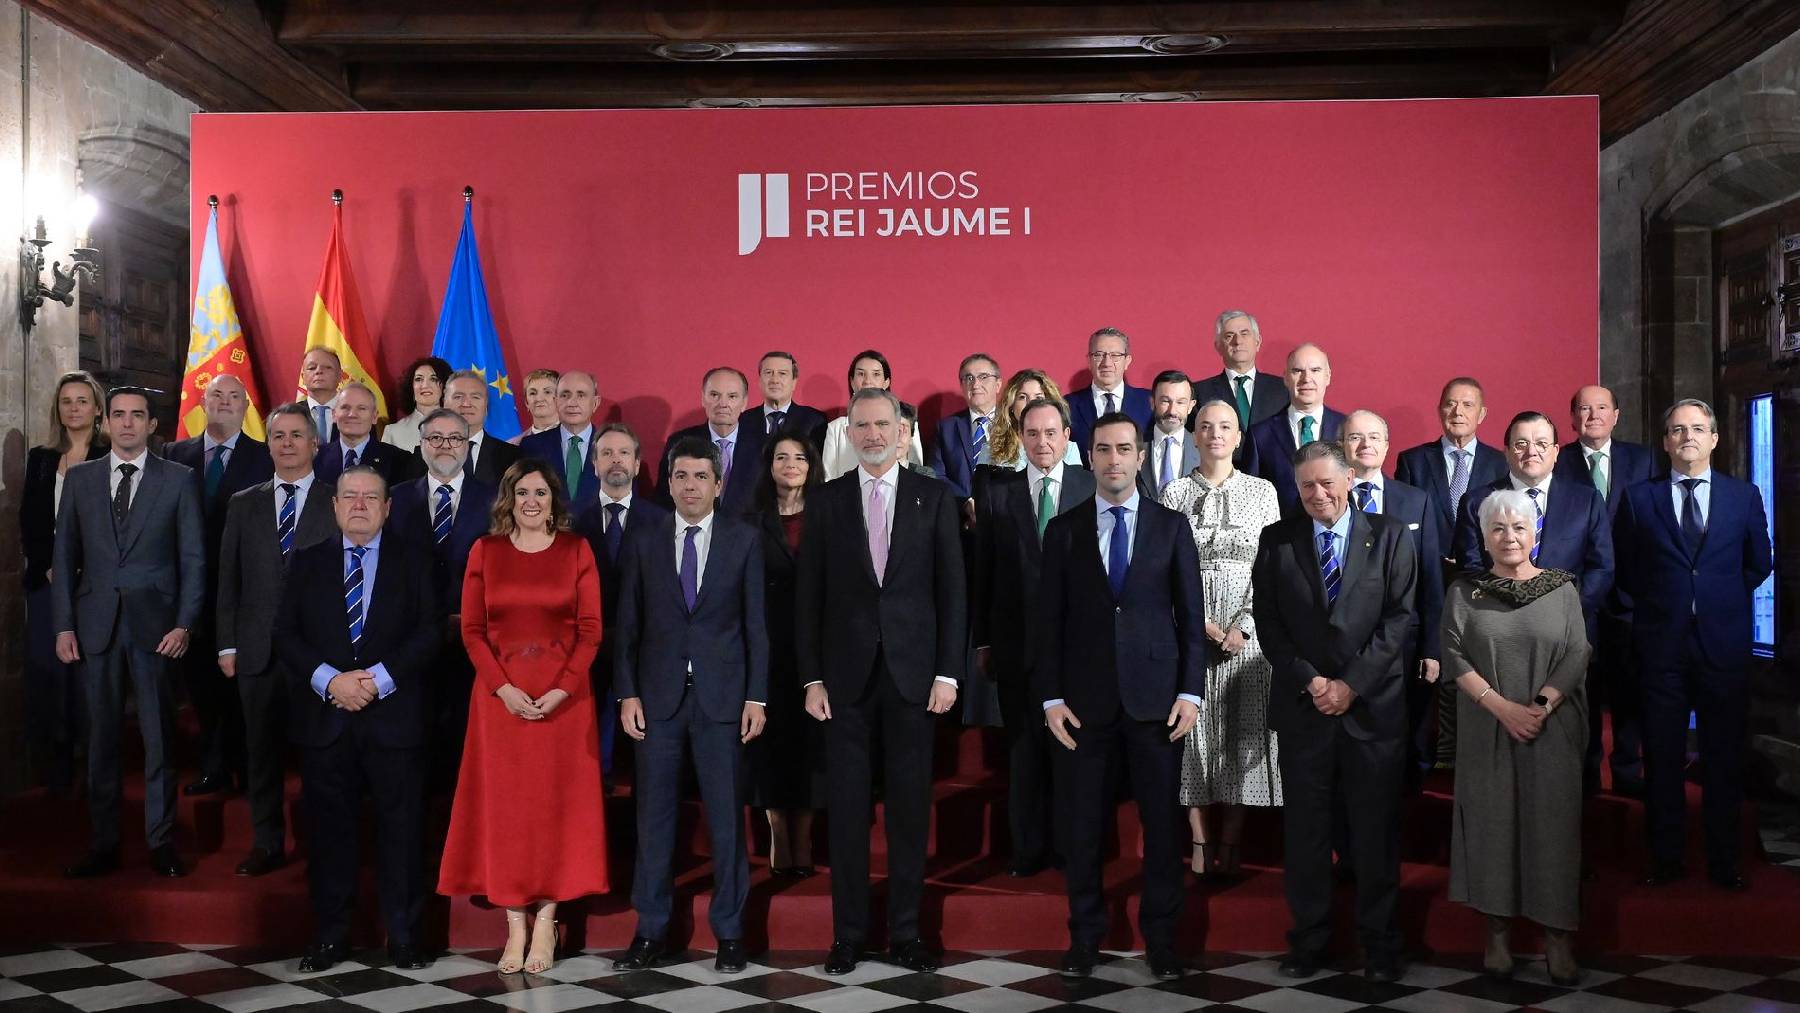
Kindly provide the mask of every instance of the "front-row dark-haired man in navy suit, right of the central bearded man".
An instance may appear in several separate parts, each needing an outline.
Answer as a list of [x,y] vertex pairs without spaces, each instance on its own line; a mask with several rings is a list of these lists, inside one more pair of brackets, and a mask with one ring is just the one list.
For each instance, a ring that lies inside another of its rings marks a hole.
[[1060,972],[1087,977],[1107,934],[1102,838],[1123,758],[1143,824],[1138,925],[1150,973],[1181,977],[1175,923],[1183,871],[1175,799],[1183,740],[1206,696],[1201,561],[1188,522],[1138,493],[1143,425],[1112,412],[1094,421],[1089,459],[1096,497],[1044,527],[1044,576],[1031,687],[1057,750],[1064,813],[1069,952]]

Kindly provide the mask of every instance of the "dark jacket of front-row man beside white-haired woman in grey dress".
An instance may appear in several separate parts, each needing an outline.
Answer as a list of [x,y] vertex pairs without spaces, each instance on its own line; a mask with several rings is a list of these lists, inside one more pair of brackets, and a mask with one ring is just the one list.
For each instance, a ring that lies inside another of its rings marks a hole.
[[1328,729],[1312,705],[1314,677],[1341,678],[1355,691],[1341,714],[1359,740],[1406,734],[1406,680],[1400,664],[1417,621],[1413,590],[1418,560],[1406,525],[1352,506],[1343,549],[1343,585],[1325,605],[1325,581],[1312,540],[1312,518],[1291,516],[1262,529],[1251,581],[1256,592],[1256,639],[1274,666],[1269,682],[1269,729],[1314,736]]

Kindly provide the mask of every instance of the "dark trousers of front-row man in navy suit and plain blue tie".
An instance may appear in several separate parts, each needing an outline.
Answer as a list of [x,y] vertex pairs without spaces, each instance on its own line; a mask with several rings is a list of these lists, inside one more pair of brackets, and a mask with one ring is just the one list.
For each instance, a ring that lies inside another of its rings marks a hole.
[[1183,894],[1181,853],[1175,846],[1181,743],[1168,741],[1163,722],[1134,722],[1123,711],[1107,722],[1089,716],[1071,732],[1073,750],[1053,743],[1057,792],[1064,799],[1062,874],[1069,891],[1069,943],[1098,948],[1107,934],[1103,835],[1118,801],[1114,784],[1123,779],[1130,783],[1138,822],[1143,826],[1138,928],[1148,950],[1174,950]]

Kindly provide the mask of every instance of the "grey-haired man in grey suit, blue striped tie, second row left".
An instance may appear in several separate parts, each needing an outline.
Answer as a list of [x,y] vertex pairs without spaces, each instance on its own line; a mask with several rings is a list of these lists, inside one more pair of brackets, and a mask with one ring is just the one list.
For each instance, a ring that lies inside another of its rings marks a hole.
[[250,853],[239,876],[261,876],[286,860],[283,819],[283,745],[286,673],[274,651],[275,612],[286,585],[288,558],[338,533],[331,486],[313,480],[319,428],[304,403],[268,414],[268,453],[275,477],[243,489],[225,507],[220,540],[218,666],[238,684],[243,704],[245,793],[250,797]]

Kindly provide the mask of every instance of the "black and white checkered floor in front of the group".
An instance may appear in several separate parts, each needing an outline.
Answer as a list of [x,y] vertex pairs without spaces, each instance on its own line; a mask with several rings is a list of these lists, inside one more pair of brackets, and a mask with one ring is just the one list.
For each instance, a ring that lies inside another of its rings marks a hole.
[[398,1013],[405,1009],[806,1009],[875,1013],[900,1008],[965,1013],[1028,1013],[1076,1004],[1116,1013],[1186,1009],[1265,1009],[1341,1013],[1350,1009],[1467,1011],[1697,1009],[1737,1013],[1800,1011],[1800,959],[1784,957],[1607,957],[1593,959],[1579,990],[1557,988],[1543,961],[1510,982],[1478,973],[1476,957],[1415,963],[1397,984],[1370,984],[1361,973],[1327,972],[1296,986],[1280,979],[1267,954],[1210,954],[1181,981],[1159,982],[1141,959],[1114,954],[1094,977],[1055,973],[1060,954],[945,954],[938,973],[911,973],[868,961],[855,973],[828,979],[823,954],[772,952],[742,975],[713,972],[709,954],[688,963],[616,973],[612,952],[560,961],[545,975],[493,972],[497,952],[448,954],[425,970],[396,972],[385,950],[358,954],[322,975],[301,975],[295,954],[247,946],[160,943],[70,945],[0,950],[0,1011],[23,1009],[196,1009],[256,1013],[308,1009]]

